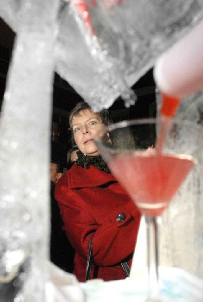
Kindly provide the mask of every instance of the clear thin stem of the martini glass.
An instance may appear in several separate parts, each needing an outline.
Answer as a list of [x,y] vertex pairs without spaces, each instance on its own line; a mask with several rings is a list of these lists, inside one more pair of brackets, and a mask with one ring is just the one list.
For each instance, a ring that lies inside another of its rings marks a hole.
[[157,217],[145,216],[147,223],[147,265],[148,265],[148,299],[159,300],[159,278],[158,278],[158,225]]

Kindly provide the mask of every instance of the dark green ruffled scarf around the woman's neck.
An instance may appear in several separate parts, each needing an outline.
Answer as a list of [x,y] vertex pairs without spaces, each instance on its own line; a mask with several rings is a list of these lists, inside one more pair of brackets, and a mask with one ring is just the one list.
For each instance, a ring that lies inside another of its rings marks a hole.
[[77,152],[78,159],[75,161],[75,165],[82,168],[89,169],[90,165],[97,169],[100,169],[106,173],[111,173],[103,158],[100,155],[90,156],[82,153],[80,150]]

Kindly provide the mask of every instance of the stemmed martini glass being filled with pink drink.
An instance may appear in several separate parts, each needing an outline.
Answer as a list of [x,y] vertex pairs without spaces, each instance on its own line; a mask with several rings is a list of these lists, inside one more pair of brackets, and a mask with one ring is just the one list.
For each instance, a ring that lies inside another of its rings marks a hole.
[[177,120],[169,124],[166,132],[157,119],[122,121],[94,137],[109,169],[147,223],[147,302],[163,301],[158,285],[158,218],[197,162],[194,156],[202,141],[200,125]]

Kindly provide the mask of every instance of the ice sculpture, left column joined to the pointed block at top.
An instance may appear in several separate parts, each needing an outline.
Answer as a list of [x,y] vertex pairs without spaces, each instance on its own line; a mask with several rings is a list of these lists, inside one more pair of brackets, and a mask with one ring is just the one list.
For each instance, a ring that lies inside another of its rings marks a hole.
[[130,86],[198,22],[203,2],[2,0],[0,15],[17,34],[0,124],[0,300],[71,301],[45,286],[54,71],[95,111],[119,95],[129,106]]

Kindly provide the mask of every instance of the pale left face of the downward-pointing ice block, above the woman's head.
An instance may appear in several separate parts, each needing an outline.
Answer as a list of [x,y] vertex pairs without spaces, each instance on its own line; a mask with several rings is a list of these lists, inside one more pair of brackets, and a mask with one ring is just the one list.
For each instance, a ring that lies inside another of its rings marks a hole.
[[134,98],[118,66],[105,54],[97,37],[86,32],[72,3],[65,5],[60,14],[55,56],[56,71],[95,111],[109,108],[123,90]]

